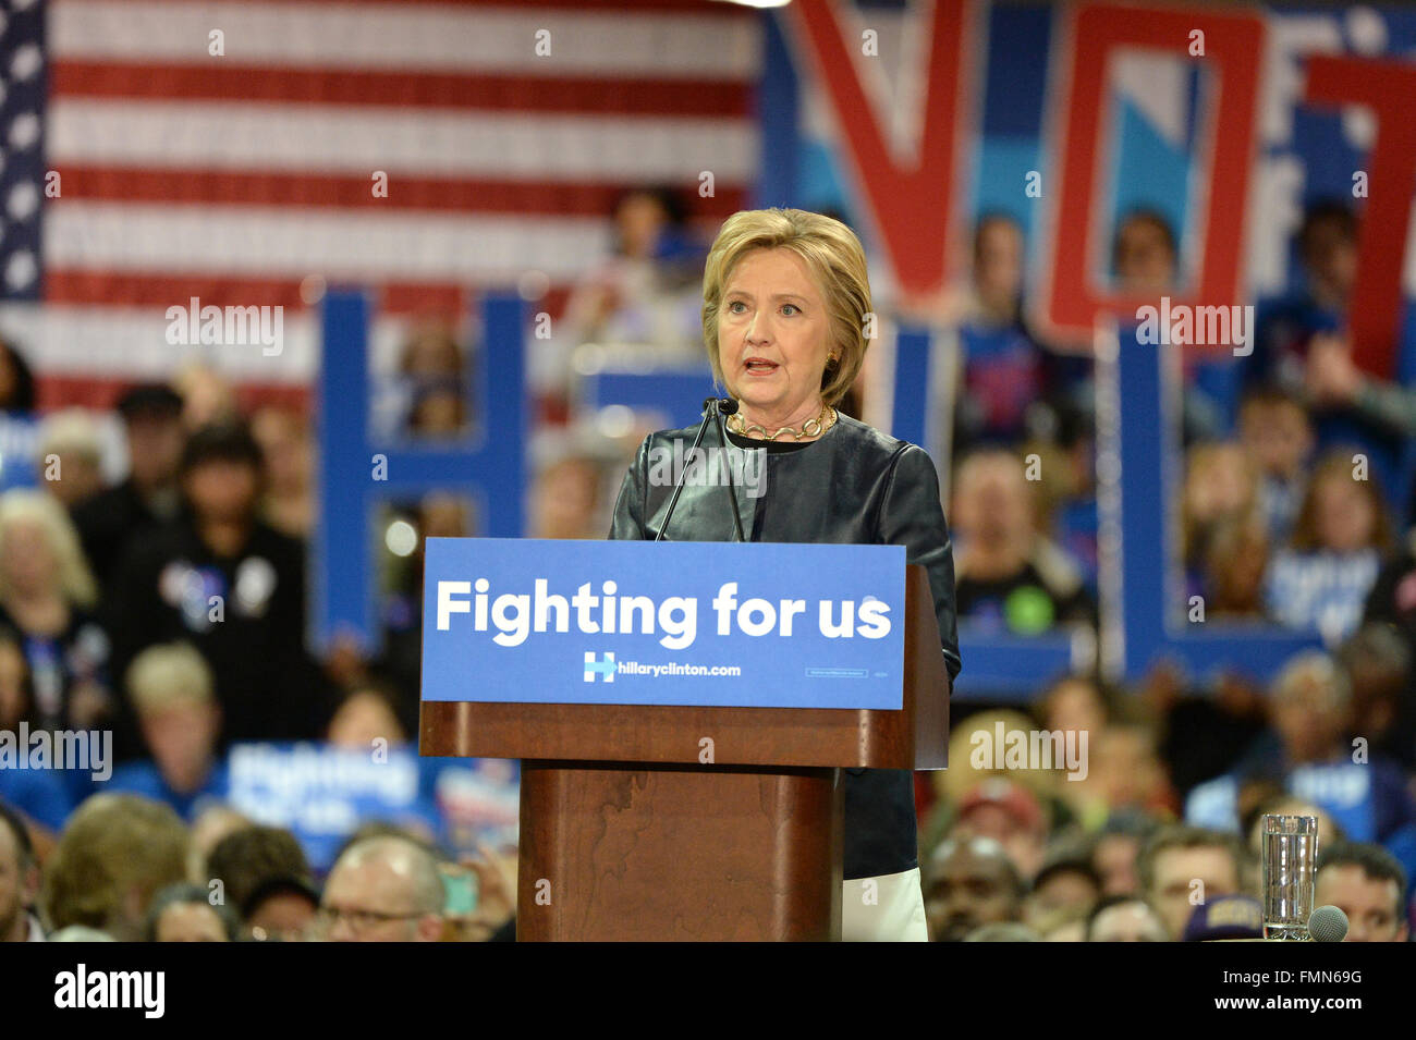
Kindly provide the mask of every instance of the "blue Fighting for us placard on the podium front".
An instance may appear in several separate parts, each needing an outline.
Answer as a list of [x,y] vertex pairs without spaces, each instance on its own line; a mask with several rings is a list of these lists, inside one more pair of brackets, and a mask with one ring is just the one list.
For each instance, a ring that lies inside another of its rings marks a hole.
[[429,538],[423,700],[899,710],[905,548]]

